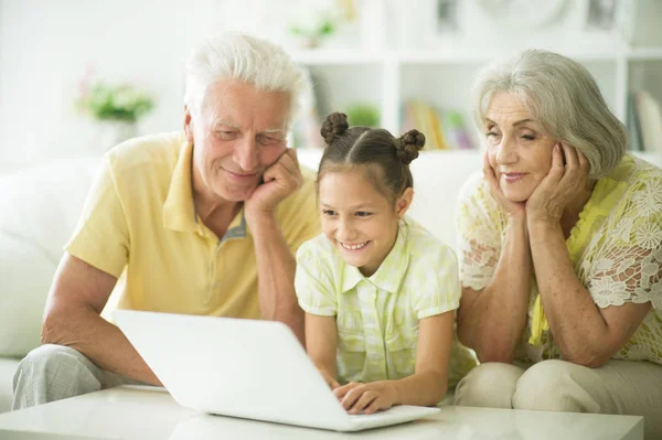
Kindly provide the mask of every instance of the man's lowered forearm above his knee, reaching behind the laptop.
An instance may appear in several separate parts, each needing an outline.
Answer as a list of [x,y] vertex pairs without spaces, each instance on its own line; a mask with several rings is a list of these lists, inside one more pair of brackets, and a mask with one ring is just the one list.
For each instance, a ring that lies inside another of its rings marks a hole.
[[92,309],[54,307],[44,322],[42,343],[71,346],[103,369],[161,385],[125,334]]

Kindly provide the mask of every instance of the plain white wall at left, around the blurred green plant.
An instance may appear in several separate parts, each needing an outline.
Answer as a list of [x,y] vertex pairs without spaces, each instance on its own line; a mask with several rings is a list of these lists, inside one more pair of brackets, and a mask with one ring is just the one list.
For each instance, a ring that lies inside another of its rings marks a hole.
[[[178,127],[181,60],[189,44],[178,12],[184,17],[184,11],[172,8],[164,13],[157,4],[164,2],[146,2],[143,8],[134,3],[0,3],[0,163],[9,167],[94,151],[94,127],[73,106],[90,65],[103,78],[132,81],[159,96],[145,130]],[[168,29],[173,32],[163,32]]]

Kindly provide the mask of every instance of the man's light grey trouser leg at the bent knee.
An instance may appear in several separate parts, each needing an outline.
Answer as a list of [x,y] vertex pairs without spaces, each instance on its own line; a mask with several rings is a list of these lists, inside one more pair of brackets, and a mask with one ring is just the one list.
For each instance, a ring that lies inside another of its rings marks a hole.
[[22,409],[119,385],[146,385],[96,366],[81,352],[64,345],[34,348],[17,368],[11,409]]

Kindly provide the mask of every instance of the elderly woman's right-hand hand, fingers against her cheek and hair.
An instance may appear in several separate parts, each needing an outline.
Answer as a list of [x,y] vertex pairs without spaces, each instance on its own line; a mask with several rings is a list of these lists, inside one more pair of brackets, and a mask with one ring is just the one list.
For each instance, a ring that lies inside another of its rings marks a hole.
[[586,189],[588,171],[588,160],[574,147],[554,146],[552,169],[526,201],[527,222],[558,224],[568,202]]

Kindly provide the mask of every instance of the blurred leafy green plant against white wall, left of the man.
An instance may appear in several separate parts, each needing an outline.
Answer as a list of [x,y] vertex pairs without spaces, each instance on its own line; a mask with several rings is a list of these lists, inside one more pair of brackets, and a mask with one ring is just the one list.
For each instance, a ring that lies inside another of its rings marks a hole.
[[76,104],[96,119],[127,122],[136,122],[154,106],[151,96],[129,84],[110,85],[99,81],[85,84]]

